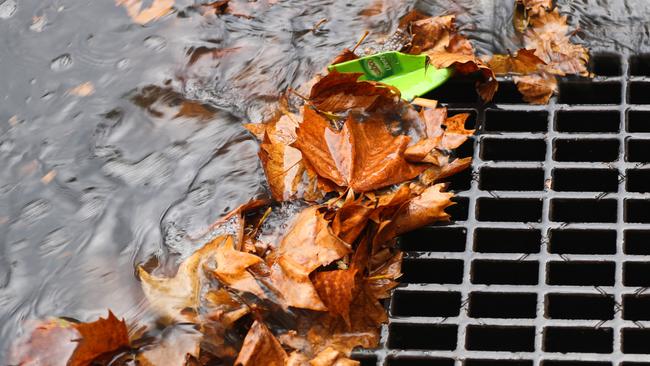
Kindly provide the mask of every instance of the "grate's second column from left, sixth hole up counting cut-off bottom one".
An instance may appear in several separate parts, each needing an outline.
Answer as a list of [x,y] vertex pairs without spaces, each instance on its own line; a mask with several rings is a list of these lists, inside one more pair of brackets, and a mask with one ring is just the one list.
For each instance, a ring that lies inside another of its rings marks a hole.
[[536,198],[487,198],[476,201],[479,221],[540,222],[542,200]]

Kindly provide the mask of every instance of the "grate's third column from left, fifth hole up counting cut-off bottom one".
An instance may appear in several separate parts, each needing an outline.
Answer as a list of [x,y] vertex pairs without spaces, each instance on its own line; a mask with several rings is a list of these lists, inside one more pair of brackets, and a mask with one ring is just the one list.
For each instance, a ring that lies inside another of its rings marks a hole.
[[552,229],[553,254],[616,254],[616,230]]

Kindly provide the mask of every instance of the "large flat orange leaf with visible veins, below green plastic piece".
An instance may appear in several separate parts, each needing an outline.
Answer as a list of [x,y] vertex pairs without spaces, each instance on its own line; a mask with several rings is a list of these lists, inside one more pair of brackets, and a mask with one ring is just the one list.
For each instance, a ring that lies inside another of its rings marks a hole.
[[294,143],[316,173],[336,185],[367,192],[416,177],[424,166],[404,159],[410,137],[393,136],[385,122],[350,115],[341,131],[310,109],[296,131]]

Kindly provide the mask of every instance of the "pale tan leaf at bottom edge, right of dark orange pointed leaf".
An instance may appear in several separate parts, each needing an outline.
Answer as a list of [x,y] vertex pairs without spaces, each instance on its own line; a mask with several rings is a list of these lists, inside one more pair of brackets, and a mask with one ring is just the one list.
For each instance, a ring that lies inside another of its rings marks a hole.
[[140,350],[136,357],[140,366],[187,366],[189,357],[199,357],[202,334],[187,325],[176,325],[163,331],[162,339]]

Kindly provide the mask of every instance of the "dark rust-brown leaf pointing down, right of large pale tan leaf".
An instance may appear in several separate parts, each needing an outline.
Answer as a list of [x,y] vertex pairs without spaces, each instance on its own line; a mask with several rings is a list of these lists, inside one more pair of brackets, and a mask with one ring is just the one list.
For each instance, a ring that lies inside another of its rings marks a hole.
[[329,312],[351,326],[350,304],[357,293],[357,269],[316,272],[313,283]]

